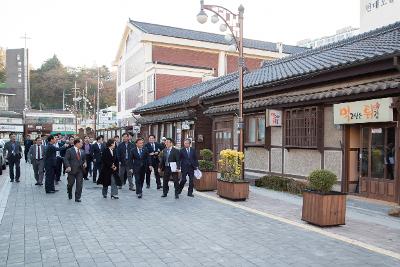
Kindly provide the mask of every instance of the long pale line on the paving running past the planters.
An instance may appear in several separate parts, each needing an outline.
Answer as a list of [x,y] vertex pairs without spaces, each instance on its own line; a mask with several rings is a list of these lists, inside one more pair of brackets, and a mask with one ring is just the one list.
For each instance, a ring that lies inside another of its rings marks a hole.
[[351,245],[354,245],[354,246],[358,246],[358,247],[370,250],[370,251],[375,252],[375,253],[379,253],[379,254],[382,254],[382,255],[389,256],[389,257],[395,258],[397,260],[400,260],[400,254],[399,253],[393,252],[391,250],[383,249],[383,248],[380,248],[380,247],[377,247],[377,246],[374,246],[374,245],[370,245],[370,244],[367,244],[367,243],[364,243],[364,242],[361,242],[361,241],[358,241],[358,240],[355,240],[355,239],[351,239],[349,237],[345,237],[345,236],[342,236],[342,235],[334,234],[334,233],[328,232],[326,230],[323,230],[321,228],[318,228],[318,227],[310,225],[310,224],[302,224],[302,223],[299,223],[299,222],[296,222],[296,221],[292,221],[292,220],[289,220],[289,219],[286,219],[286,218],[283,218],[283,217],[280,217],[280,216],[276,216],[276,215],[273,215],[273,214],[270,214],[270,213],[267,213],[267,212],[264,212],[264,211],[256,210],[256,209],[253,209],[253,208],[249,208],[249,207],[240,205],[240,204],[238,204],[236,202],[225,200],[225,199],[220,198],[220,197],[210,196],[210,195],[208,195],[206,193],[201,193],[201,192],[197,191],[196,195],[199,195],[199,196],[202,196],[204,198],[208,198],[208,199],[211,199],[213,201],[216,201],[216,202],[219,202],[219,203],[222,203],[222,204],[225,204],[225,205],[229,205],[229,206],[241,209],[241,210],[245,210],[245,211],[248,211],[248,212],[263,216],[263,217],[267,217],[267,218],[270,218],[270,219],[275,220],[275,221],[279,221],[279,222],[282,222],[282,223],[290,224],[290,225],[302,228],[302,229],[307,230],[307,231],[318,233],[320,235],[323,235],[323,236],[326,236],[326,237],[329,237],[329,238],[332,238],[332,239],[336,239],[336,240],[339,240],[339,241],[342,241],[342,242],[345,242],[345,243],[348,243],[348,244],[351,244]]

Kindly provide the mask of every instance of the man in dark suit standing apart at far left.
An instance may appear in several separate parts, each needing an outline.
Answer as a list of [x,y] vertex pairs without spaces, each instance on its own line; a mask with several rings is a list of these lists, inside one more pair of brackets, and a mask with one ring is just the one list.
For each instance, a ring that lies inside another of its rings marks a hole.
[[[3,153],[6,154],[6,158],[8,160],[8,165],[10,168],[10,181],[19,183],[19,177],[21,175],[21,168],[20,168],[20,163],[21,163],[21,158],[22,158],[22,147],[19,144],[19,142],[16,141],[16,136],[15,134],[11,133],[9,135],[10,141],[8,141],[4,145],[4,151]],[[15,166],[15,177],[14,177],[14,166]]]

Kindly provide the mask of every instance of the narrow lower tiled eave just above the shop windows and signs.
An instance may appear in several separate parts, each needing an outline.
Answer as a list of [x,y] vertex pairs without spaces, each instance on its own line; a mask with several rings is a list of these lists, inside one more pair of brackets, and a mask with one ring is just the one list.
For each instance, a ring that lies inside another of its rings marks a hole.
[[[277,105],[292,103],[307,103],[309,101],[324,101],[327,99],[364,94],[369,92],[400,89],[400,77],[386,78],[378,81],[362,83],[351,86],[341,86],[334,89],[308,90],[293,92],[291,94],[279,94],[254,100],[246,100],[244,109],[269,108]],[[220,105],[208,108],[204,114],[220,114],[237,112],[238,104]]]

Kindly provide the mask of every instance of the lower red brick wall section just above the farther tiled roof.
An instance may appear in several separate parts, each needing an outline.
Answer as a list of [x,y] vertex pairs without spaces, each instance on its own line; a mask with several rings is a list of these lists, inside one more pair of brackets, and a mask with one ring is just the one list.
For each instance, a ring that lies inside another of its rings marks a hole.
[[175,89],[182,89],[201,82],[201,78],[177,76],[168,74],[156,74],[156,95],[155,98],[170,95]]

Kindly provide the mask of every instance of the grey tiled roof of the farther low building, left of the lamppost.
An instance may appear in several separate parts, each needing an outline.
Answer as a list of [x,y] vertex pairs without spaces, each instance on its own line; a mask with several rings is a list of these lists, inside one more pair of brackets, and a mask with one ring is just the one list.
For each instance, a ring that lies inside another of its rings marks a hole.
[[144,106],[135,109],[134,112],[143,113],[146,111],[152,111],[160,108],[186,103],[195,97],[214,90],[215,88],[236,79],[237,77],[238,74],[235,72],[218,78],[213,78],[205,82],[197,83],[183,89],[177,89],[168,96],[157,99],[153,102],[150,102]]

